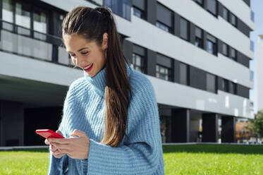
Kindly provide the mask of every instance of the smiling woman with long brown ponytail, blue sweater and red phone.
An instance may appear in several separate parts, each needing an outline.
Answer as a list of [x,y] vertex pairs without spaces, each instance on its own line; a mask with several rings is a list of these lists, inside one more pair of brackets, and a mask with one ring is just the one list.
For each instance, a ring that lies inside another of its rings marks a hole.
[[78,7],[63,42],[84,76],[69,87],[49,174],[164,174],[159,113],[146,76],[130,69],[111,11]]

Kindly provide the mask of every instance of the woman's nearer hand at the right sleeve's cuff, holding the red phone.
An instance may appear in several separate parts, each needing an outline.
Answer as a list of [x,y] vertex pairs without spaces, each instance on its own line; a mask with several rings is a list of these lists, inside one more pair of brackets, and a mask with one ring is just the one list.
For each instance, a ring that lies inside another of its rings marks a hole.
[[[75,129],[71,136],[73,138],[49,138],[48,140],[51,145],[73,159],[87,159],[90,150],[90,138],[78,129]],[[78,138],[74,136],[78,136]]]

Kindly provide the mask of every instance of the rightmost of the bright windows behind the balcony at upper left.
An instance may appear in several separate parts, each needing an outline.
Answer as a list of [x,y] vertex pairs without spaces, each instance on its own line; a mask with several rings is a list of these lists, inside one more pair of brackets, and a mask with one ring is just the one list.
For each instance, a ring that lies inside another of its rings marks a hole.
[[35,10],[33,13],[33,21],[33,28],[37,31],[34,32],[34,37],[39,40],[47,40],[47,36],[42,34],[47,34],[47,13]]

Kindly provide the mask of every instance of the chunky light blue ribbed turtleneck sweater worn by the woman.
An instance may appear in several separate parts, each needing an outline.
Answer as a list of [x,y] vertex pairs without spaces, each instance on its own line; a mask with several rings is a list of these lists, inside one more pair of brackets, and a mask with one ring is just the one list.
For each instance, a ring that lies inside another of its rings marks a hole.
[[[154,89],[142,73],[128,68],[132,98],[128,107],[126,136],[118,147],[99,143],[104,132],[105,69],[69,87],[59,130],[64,136],[74,129],[90,138],[88,159],[50,156],[49,174],[164,174],[159,113]],[[66,171],[66,173],[65,173]]]

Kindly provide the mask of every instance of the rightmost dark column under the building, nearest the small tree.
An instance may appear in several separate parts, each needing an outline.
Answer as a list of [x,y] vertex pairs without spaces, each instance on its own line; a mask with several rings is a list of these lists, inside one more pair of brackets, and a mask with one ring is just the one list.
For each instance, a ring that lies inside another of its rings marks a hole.
[[236,118],[234,116],[222,116],[222,143],[236,143]]

